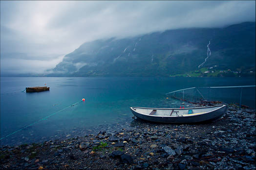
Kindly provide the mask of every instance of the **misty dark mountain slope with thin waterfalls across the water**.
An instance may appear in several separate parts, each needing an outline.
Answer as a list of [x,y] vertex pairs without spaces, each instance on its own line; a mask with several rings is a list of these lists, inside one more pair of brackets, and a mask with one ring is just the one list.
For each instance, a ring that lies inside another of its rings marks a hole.
[[82,44],[47,76],[170,76],[217,66],[255,72],[255,22],[187,28]]

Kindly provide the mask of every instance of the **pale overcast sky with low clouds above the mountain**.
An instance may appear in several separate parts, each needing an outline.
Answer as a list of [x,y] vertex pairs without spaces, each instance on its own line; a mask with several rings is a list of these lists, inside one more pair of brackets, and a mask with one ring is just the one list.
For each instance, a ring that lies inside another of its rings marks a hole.
[[0,1],[1,73],[41,73],[100,38],[255,22],[255,1]]

